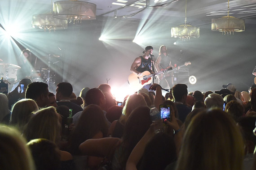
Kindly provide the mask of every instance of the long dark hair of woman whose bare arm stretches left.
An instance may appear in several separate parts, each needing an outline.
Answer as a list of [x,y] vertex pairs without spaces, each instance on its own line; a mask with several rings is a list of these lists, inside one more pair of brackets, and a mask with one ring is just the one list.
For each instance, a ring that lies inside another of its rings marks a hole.
[[148,106],[139,106],[132,111],[125,124],[124,135],[122,137],[122,144],[124,145],[124,150],[121,154],[121,157],[123,157],[121,159],[123,160],[121,162],[122,167],[125,166],[132,149],[141,140],[142,136],[144,136],[151,123],[150,108]]

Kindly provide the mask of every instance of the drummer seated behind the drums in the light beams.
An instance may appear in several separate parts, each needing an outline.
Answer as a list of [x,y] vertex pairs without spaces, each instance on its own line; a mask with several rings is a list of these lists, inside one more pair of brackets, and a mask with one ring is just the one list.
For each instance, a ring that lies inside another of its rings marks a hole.
[[19,66],[21,67],[21,69],[19,69],[17,73],[18,80],[28,78],[31,75],[33,65],[34,64],[31,58],[31,51],[28,49],[23,50],[19,59]]

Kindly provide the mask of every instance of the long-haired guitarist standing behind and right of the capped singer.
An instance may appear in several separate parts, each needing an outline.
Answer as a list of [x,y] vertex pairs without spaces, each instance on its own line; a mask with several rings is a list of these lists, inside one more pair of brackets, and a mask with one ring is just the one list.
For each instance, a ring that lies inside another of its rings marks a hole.
[[[167,48],[164,45],[162,45],[159,48],[159,56],[156,59],[155,68],[156,68],[157,72],[159,72],[161,70],[161,68],[166,69],[166,68],[170,68],[170,67],[175,68],[172,65],[171,57],[167,53]],[[178,69],[179,69],[179,67],[178,67]],[[168,73],[168,74],[170,74],[170,76],[169,75],[165,76],[164,74],[161,74],[159,76],[159,84],[162,87],[164,87],[163,86],[164,81],[167,82],[167,84],[170,88],[173,86],[173,72]]]

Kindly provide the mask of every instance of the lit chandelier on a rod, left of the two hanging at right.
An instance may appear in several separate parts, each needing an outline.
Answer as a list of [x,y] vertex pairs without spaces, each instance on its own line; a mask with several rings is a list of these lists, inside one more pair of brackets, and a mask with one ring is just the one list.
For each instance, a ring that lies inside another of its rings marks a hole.
[[186,24],[187,21],[187,0],[185,4],[185,24],[180,26],[174,26],[171,29],[171,37],[182,38],[182,40],[189,40],[190,38],[200,37],[200,28],[190,26]]

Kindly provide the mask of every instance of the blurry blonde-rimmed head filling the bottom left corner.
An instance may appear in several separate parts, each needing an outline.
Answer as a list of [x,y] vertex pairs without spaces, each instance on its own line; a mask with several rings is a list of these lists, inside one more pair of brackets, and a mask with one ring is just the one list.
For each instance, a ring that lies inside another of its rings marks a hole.
[[35,170],[26,140],[10,127],[0,125],[0,170]]

